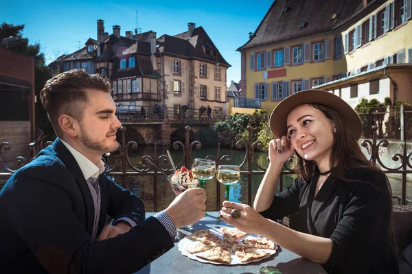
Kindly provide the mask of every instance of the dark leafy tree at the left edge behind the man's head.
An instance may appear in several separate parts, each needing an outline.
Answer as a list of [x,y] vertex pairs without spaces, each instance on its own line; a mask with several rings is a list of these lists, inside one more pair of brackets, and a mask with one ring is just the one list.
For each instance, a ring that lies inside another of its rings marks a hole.
[[[40,91],[45,86],[45,82],[52,77],[49,68],[45,64],[45,55],[41,53],[41,45],[36,42],[33,45],[29,45],[29,39],[23,38],[23,25],[13,25],[8,23],[2,23],[0,25],[0,41],[4,38],[14,36],[21,40],[24,40],[25,45],[16,49],[18,53],[32,56],[34,58],[34,93],[39,98]],[[41,103],[36,103],[36,125],[38,129],[43,130],[46,135],[49,135],[49,139],[54,139],[54,129],[49,122],[47,112],[43,108]],[[36,134],[37,135],[37,134]]]

